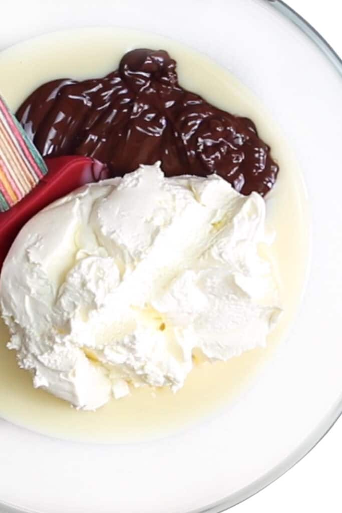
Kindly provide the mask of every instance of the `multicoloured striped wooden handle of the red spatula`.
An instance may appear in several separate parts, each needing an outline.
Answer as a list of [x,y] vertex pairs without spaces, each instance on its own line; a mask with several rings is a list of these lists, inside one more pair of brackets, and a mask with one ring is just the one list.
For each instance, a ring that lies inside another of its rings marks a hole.
[[25,198],[47,172],[43,157],[0,96],[0,212]]

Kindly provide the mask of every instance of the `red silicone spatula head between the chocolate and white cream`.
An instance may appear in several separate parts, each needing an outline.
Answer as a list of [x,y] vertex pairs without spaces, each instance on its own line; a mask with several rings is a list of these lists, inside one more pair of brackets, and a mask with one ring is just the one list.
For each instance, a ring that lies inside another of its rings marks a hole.
[[109,177],[106,166],[83,156],[47,159],[48,172],[24,199],[0,212],[0,270],[19,230],[39,210],[87,183]]

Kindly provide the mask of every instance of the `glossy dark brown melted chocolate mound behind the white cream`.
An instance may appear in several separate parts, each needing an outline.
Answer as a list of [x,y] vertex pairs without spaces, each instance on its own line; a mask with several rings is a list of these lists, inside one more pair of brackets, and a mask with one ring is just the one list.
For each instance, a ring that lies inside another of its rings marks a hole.
[[162,50],[128,52],[104,78],[49,82],[16,115],[43,156],[90,156],[112,176],[160,160],[167,176],[218,173],[265,195],[278,173],[254,123],[180,87]]

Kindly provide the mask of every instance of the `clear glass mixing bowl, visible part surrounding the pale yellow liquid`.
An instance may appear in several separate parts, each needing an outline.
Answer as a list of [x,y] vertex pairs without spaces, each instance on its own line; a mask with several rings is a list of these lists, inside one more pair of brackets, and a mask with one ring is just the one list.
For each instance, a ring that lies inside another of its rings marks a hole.
[[137,28],[207,54],[247,85],[272,112],[303,169],[312,259],[288,340],[234,408],[177,435],[136,444],[65,442],[2,421],[0,507],[39,513],[218,513],[281,476],[341,412],[341,61],[277,0],[44,5],[12,2],[3,14],[0,47],[61,28]]

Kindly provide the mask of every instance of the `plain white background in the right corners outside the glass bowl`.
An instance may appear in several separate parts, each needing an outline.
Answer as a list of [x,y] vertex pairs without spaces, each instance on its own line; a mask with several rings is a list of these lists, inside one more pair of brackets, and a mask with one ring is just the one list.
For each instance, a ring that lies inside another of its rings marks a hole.
[[[286,3],[318,30],[342,56],[341,0],[287,0]],[[233,511],[340,513],[341,477],[342,418],[304,460],[268,488],[235,506]]]

